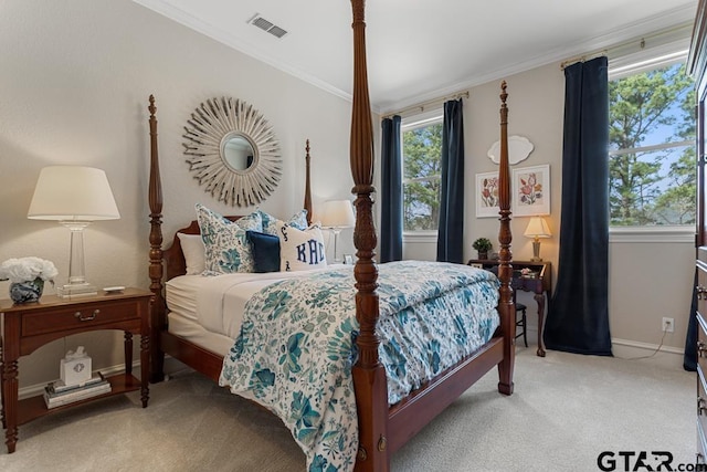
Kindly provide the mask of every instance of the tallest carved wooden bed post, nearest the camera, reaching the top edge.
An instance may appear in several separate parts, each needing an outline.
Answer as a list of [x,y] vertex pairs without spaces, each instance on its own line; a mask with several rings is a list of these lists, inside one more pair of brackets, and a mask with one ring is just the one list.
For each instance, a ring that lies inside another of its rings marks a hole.
[[358,261],[356,318],[360,333],[359,356],[352,368],[359,424],[357,471],[389,470],[388,388],[386,370],[378,358],[376,323],[379,315],[378,268],[373,261],[377,238],[373,225],[373,133],[366,66],[365,0],[351,0],[354,13],[354,108],[351,113],[350,165],[356,201],[354,244]]

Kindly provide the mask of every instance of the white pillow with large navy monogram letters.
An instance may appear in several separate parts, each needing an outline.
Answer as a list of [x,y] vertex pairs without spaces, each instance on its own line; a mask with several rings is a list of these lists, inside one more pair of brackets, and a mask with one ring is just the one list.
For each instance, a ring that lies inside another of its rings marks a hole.
[[327,266],[324,237],[318,225],[313,224],[303,231],[289,224],[283,224],[277,231],[277,238],[279,238],[281,271],[307,271]]

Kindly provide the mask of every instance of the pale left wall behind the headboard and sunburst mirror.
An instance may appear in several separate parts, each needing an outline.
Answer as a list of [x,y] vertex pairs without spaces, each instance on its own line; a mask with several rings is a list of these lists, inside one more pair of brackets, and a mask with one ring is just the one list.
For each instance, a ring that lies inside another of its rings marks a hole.
[[[233,96],[271,123],[283,180],[262,208],[289,217],[304,198],[304,148],[310,139],[315,211],[350,196],[350,103],[228,49],[130,1],[6,0],[0,3],[0,261],[53,261],[68,270],[68,232],[27,211],[40,169],[103,168],[120,220],[86,230],[87,279],[97,286],[147,287],[149,209],[148,96],[157,98],[166,238],[194,219],[202,202],[226,214],[251,209],[217,203],[192,178],[183,126],[207,98]],[[350,253],[350,230],[340,251]],[[166,244],[168,241],[166,239]],[[0,282],[0,297],[8,283]],[[52,293],[48,286],[46,293]],[[91,333],[52,343],[20,361],[21,386],[54,379],[59,359],[78,343],[97,368],[122,363],[122,334]]]

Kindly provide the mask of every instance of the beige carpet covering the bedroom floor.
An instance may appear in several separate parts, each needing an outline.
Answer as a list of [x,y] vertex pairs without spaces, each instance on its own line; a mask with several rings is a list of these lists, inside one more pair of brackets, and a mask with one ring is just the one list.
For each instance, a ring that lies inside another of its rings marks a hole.
[[[694,460],[694,373],[645,359],[542,359],[531,346],[518,349],[515,381],[503,397],[496,371],[486,375],[393,455],[393,471],[598,471],[602,451],[669,451],[675,469]],[[149,407],[138,405],[130,394],[22,426],[0,471],[305,469],[278,419],[197,374],[151,386]]]

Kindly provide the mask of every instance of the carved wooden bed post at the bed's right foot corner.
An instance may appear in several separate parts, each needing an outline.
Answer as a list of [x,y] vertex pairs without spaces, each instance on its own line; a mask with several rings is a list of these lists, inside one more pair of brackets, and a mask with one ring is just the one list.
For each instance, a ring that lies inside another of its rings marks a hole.
[[[500,228],[498,242],[500,243],[498,279],[500,280],[500,301],[498,313],[500,315],[500,329],[504,333],[504,359],[498,364],[498,391],[504,395],[513,394],[513,367],[516,355],[516,308],[513,302],[513,287],[510,280],[513,266],[510,265],[510,171],[508,165],[508,107],[506,106],[506,81],[500,84],[500,162],[498,179],[502,182],[498,190],[498,207],[500,214]],[[504,185],[504,182],[506,182]]]

